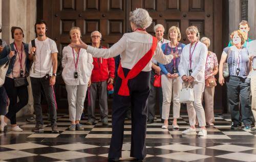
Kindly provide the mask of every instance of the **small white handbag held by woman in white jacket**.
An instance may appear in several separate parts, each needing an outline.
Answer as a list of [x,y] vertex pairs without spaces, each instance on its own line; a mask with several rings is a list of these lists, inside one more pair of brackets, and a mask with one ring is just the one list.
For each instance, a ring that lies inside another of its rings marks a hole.
[[182,83],[180,90],[180,103],[194,102],[194,89],[191,84]]

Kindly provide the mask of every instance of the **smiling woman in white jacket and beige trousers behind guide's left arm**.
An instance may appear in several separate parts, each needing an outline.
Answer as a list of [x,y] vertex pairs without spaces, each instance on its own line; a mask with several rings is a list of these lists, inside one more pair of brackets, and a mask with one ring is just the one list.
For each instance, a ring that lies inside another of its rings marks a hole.
[[[72,43],[79,44],[81,31],[78,27],[70,30]],[[69,130],[83,130],[79,123],[83,111],[86,91],[90,86],[90,77],[93,70],[93,57],[86,49],[72,48],[70,45],[62,51],[62,78],[66,84],[69,102]]]

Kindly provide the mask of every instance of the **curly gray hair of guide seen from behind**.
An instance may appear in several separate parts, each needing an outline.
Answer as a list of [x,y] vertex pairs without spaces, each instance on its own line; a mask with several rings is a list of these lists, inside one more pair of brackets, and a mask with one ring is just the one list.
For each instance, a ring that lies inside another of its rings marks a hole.
[[150,14],[145,9],[136,9],[130,12],[129,20],[134,23],[138,28],[146,29],[152,23]]

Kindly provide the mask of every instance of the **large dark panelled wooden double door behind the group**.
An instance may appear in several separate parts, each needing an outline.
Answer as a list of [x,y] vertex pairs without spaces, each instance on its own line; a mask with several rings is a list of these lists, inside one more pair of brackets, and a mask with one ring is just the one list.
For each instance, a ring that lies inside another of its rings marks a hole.
[[[48,36],[56,41],[59,50],[57,79],[57,102],[60,109],[67,109],[67,93],[61,79],[61,51],[70,43],[72,26],[81,29],[82,40],[91,42],[91,32],[100,31],[102,45],[110,47],[124,33],[131,32],[130,12],[136,8],[146,9],[153,23],[147,29],[154,35],[154,25],[165,27],[165,38],[170,26],[181,30],[181,42],[188,43],[185,30],[196,25],[200,35],[211,40],[210,50],[220,59],[222,50],[222,1],[221,0],[43,0],[42,18],[48,23]],[[217,88],[218,89],[218,88]],[[217,92],[218,93],[218,92]],[[216,95],[216,100],[221,99]],[[219,102],[221,104],[221,102]],[[216,106],[221,105],[216,104]]]

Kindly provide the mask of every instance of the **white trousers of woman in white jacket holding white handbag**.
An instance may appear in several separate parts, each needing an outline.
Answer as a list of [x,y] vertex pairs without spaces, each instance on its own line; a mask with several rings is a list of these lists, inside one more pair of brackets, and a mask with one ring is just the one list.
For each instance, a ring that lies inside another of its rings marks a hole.
[[194,102],[187,103],[187,114],[189,125],[194,126],[196,124],[196,117],[199,122],[199,126],[205,126],[205,114],[202,105],[202,93],[204,92],[204,83],[194,83]]

